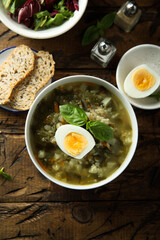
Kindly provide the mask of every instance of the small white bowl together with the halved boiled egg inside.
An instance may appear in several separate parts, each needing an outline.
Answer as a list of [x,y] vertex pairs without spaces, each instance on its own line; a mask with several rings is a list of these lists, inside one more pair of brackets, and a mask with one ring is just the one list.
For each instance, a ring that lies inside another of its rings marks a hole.
[[[160,108],[160,46],[141,44],[121,57],[116,69],[117,87],[138,108]],[[154,96],[154,97],[153,97]]]

